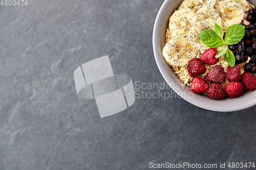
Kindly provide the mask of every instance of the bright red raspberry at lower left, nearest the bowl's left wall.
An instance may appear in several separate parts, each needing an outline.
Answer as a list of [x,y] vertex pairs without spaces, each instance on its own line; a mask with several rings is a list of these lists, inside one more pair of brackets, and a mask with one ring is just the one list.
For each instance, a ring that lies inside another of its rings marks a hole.
[[191,90],[195,93],[205,93],[210,86],[200,77],[196,77],[191,81]]

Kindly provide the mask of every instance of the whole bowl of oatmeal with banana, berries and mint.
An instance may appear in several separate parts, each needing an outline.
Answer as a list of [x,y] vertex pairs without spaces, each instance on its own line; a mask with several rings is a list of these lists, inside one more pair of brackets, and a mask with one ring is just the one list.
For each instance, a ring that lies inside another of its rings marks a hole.
[[212,111],[256,105],[256,1],[165,0],[153,51],[166,83]]

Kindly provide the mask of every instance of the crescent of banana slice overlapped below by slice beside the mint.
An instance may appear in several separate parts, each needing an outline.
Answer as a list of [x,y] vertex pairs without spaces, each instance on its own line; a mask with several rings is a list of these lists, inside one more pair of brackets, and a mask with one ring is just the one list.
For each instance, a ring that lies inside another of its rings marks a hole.
[[193,20],[194,26],[196,25],[196,23],[198,23],[204,19],[212,19],[212,20],[217,21],[219,23],[219,25],[222,25],[221,17],[214,9],[204,7],[202,9],[198,10],[194,17],[194,20]]

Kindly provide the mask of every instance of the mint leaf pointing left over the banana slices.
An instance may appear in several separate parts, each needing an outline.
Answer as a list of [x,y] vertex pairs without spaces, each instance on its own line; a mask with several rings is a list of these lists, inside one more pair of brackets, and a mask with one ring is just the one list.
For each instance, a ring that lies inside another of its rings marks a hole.
[[200,40],[210,48],[218,48],[223,45],[222,38],[212,30],[204,30],[198,34]]

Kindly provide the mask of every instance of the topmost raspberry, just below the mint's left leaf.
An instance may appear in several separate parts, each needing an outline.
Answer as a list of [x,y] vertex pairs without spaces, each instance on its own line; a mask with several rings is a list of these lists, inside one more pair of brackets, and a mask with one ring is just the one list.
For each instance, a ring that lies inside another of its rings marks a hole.
[[209,48],[201,55],[200,61],[210,65],[216,64],[219,61],[218,58],[215,58],[216,54],[217,50],[215,48]]

